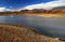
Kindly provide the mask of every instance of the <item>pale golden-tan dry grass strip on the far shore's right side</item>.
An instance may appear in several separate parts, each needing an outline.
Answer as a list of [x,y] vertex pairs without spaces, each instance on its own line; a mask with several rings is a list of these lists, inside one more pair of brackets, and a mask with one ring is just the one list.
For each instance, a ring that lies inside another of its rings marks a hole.
[[28,16],[40,16],[40,17],[60,17],[65,18],[65,14],[26,14]]

